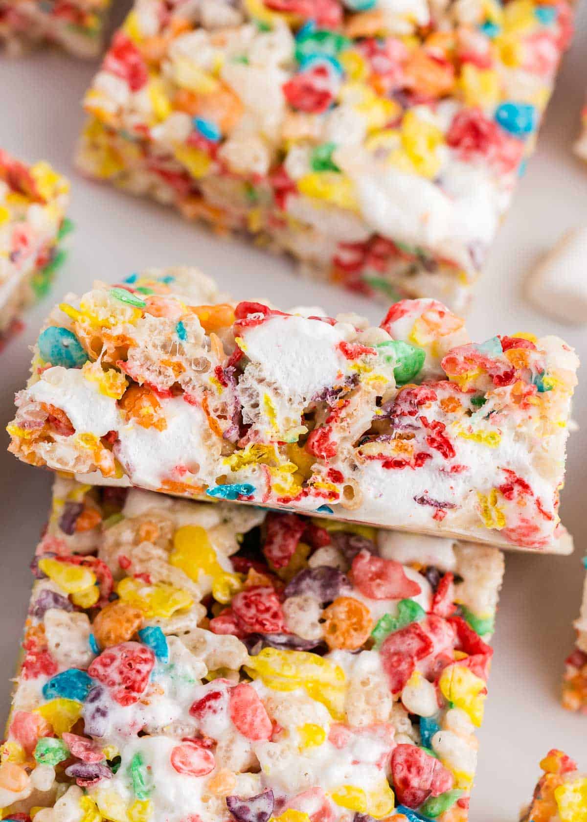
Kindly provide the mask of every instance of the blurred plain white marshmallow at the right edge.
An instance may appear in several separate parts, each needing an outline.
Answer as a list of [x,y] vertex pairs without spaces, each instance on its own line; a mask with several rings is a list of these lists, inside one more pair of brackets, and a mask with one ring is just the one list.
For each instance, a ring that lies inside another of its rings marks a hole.
[[570,325],[587,322],[587,226],[570,229],[526,280],[538,311]]

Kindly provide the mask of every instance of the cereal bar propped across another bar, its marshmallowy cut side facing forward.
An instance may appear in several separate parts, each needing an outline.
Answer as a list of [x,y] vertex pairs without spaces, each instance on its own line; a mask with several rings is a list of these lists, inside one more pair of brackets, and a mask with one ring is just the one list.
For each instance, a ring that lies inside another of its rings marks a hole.
[[472,343],[431,299],[371,327],[150,271],[52,312],[10,450],[89,482],[564,551],[576,367],[557,337]]

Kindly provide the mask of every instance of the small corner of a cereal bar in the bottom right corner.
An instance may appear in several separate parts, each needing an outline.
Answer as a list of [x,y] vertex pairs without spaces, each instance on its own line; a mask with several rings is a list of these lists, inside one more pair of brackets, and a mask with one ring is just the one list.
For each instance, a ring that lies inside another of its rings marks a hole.
[[562,750],[549,750],[540,767],[544,774],[520,822],[585,822],[587,776],[579,773],[575,762]]

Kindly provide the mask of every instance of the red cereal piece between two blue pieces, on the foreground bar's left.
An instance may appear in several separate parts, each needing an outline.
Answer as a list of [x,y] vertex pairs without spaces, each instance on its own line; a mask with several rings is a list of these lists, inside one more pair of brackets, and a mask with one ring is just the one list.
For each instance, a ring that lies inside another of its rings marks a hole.
[[122,642],[99,654],[88,668],[94,677],[110,689],[119,705],[132,705],[146,689],[155,665],[155,653],[139,642]]

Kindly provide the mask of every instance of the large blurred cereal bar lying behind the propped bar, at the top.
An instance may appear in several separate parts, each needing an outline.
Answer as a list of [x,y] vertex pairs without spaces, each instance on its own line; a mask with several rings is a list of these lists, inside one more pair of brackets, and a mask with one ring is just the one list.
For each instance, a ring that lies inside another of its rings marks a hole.
[[460,311],[570,35],[565,0],[136,0],[78,165],[354,292]]

